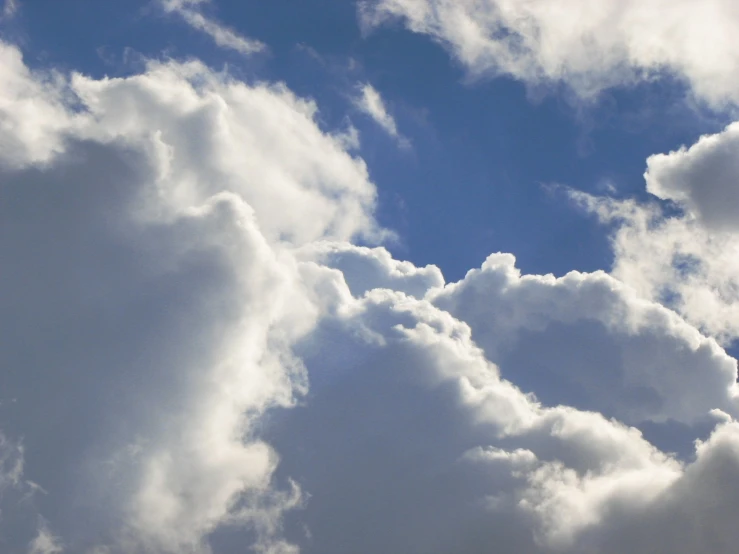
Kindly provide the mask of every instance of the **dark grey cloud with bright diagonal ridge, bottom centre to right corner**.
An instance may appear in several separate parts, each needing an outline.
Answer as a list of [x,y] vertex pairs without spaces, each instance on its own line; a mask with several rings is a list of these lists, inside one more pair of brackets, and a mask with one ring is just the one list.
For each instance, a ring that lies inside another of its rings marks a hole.
[[302,552],[476,554],[491,544],[501,553],[618,552],[614,544],[633,544],[687,554],[733,540],[726,518],[715,543],[706,531],[732,492],[720,493],[715,512],[703,502],[713,460],[722,478],[737,471],[735,424],[683,466],[633,428],[541,406],[501,379],[467,325],[428,300],[387,289],[350,300],[334,270],[311,271],[337,279],[345,308],[298,344],[310,395],[267,428],[280,471],[309,495],[286,521],[288,536],[303,537]]

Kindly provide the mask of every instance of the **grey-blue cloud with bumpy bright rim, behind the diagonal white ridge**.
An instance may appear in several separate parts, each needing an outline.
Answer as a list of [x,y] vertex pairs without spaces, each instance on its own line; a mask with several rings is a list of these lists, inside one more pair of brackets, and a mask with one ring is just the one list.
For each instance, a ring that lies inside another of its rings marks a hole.
[[603,272],[522,276],[514,262],[494,254],[432,295],[504,376],[630,423],[739,415],[736,360],[713,339]]

